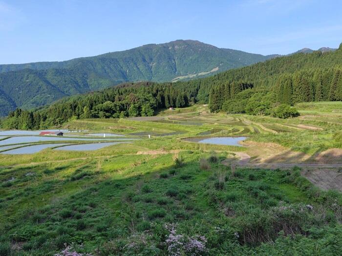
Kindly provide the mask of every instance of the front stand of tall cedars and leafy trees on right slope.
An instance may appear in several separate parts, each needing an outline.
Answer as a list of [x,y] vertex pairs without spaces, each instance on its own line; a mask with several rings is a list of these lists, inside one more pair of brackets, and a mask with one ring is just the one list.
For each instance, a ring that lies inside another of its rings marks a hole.
[[[212,88],[209,108],[212,112],[268,115],[279,104],[294,105],[307,101],[342,100],[342,68],[300,70],[269,77],[254,90],[233,91],[236,82]],[[273,83],[269,86],[269,83]],[[246,87],[246,89],[253,87]]]

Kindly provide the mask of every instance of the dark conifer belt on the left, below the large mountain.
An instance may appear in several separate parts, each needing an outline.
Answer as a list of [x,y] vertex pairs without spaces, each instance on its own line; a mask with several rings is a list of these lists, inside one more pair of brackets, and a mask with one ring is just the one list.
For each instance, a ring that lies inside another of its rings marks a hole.
[[8,129],[41,129],[77,118],[153,116],[169,107],[196,102],[198,86],[183,83],[125,83],[100,92],[60,100],[38,110],[16,109],[2,126]]

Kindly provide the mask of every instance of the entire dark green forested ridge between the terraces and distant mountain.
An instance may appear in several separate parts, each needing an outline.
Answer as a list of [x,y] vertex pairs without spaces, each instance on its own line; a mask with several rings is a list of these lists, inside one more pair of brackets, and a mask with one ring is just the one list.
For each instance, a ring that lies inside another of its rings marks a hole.
[[282,103],[321,100],[342,100],[342,44],[333,52],[279,57],[213,77],[126,83],[64,98],[36,111],[17,109],[4,126],[39,129],[72,118],[151,116],[158,109],[184,107],[191,102],[209,102],[212,112],[267,115]]

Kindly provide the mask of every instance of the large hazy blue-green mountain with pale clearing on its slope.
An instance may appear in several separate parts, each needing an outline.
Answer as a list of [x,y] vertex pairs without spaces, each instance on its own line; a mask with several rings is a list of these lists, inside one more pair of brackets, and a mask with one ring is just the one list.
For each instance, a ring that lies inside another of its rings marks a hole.
[[0,65],[0,116],[16,107],[34,108],[126,81],[193,79],[278,56],[217,48],[195,40],[176,40],[95,57],[3,64]]

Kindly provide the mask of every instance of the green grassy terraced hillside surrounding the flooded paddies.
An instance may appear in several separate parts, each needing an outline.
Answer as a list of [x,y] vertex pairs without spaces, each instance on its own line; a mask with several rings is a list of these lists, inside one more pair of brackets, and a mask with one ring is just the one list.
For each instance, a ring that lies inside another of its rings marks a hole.
[[[342,102],[296,108],[290,119],[211,114],[206,105],[76,119],[58,128],[141,139],[0,154],[0,255],[54,255],[64,243],[93,256],[342,255]],[[227,136],[247,139],[184,140]]]

